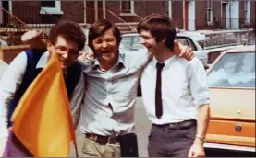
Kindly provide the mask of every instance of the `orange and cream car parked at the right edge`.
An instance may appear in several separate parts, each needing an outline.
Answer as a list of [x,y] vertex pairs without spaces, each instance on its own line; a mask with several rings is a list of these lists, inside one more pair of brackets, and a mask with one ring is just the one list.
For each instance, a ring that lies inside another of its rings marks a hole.
[[255,155],[255,45],[222,52],[207,79],[211,119],[205,148]]

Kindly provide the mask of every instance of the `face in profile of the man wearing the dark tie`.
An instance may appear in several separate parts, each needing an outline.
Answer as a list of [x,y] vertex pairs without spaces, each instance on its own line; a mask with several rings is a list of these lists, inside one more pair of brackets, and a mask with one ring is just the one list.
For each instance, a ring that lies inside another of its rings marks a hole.
[[163,47],[163,42],[156,42],[155,38],[148,30],[142,30],[140,32],[141,44],[143,44],[149,51],[149,53],[155,54],[159,52],[159,49]]

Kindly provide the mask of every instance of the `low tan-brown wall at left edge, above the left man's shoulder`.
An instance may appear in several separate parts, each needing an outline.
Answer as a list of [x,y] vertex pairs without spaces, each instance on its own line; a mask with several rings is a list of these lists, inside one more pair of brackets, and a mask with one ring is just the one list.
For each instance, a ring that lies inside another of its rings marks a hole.
[[0,48],[0,59],[9,64],[20,53],[30,49],[27,45],[9,46]]

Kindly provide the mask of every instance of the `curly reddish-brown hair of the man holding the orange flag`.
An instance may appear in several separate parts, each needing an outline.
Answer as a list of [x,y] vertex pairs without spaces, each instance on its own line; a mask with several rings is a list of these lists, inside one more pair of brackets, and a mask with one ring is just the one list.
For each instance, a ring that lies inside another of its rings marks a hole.
[[48,40],[55,44],[58,36],[74,41],[79,44],[79,51],[82,51],[85,44],[85,35],[78,23],[73,21],[59,21],[50,30]]

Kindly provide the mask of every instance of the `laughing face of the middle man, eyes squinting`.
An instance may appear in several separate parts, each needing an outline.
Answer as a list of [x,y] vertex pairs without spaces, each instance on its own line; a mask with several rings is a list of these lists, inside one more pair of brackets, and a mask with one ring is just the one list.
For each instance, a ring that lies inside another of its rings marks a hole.
[[102,36],[92,40],[93,51],[99,59],[113,62],[118,56],[118,44],[111,29],[104,32]]

